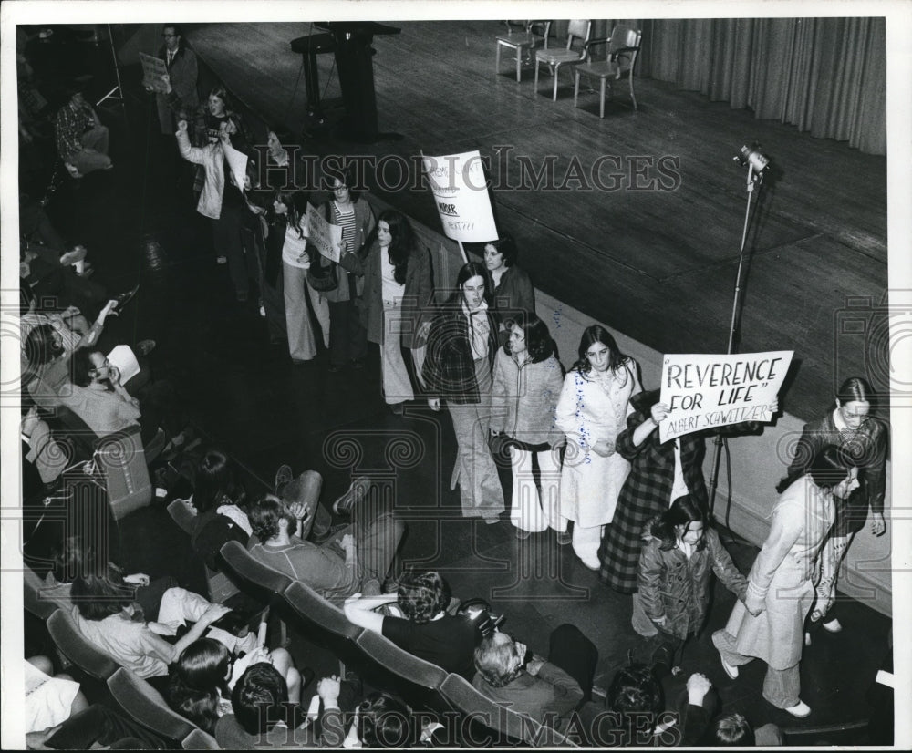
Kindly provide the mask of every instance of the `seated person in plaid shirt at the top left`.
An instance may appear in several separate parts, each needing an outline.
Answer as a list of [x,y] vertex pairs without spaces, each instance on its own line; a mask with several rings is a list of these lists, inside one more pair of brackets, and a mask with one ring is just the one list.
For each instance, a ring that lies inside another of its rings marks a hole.
[[57,154],[74,178],[93,170],[110,170],[108,128],[101,124],[95,109],[83,97],[82,86],[67,87],[67,103],[54,120]]

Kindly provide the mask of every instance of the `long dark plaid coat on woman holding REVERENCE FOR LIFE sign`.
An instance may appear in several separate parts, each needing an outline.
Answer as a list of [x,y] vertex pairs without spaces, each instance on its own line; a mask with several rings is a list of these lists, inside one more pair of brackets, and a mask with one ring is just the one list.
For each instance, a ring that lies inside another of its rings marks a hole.
[[[642,405],[642,404],[641,404]],[[650,417],[648,408],[637,409],[627,417],[627,428],[617,436],[617,452],[630,461],[630,475],[617,498],[615,517],[606,526],[598,551],[601,561],[599,576],[620,593],[637,590],[637,564],[642,549],[643,530],[656,515],[668,510],[675,477],[675,442],[658,441],[658,429],[639,447],[633,444],[633,432]],[[691,497],[705,509],[708,506],[703,481],[703,458],[706,448],[703,434],[679,437],[681,472]]]

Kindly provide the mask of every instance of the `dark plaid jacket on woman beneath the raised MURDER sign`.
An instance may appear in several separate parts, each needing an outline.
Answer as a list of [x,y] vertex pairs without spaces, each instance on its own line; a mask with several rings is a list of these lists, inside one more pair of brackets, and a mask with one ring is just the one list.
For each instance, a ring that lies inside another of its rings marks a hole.
[[[497,353],[497,325],[487,312],[488,361]],[[461,293],[451,296],[434,317],[428,334],[428,353],[422,371],[429,397],[443,397],[453,405],[480,403],[475,362],[469,342],[469,323],[462,312]]]

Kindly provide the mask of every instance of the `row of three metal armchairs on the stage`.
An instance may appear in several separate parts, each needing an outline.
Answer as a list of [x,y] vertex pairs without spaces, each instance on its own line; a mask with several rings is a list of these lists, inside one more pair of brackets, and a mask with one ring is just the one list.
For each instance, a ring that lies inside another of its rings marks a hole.
[[[619,81],[627,76],[630,88],[630,100],[637,109],[637,97],[634,94],[634,68],[637,64],[642,31],[629,24],[617,24],[611,36],[592,36],[592,20],[577,19],[570,21],[564,46],[548,47],[551,32],[551,21],[525,21],[515,29],[512,21],[507,21],[507,33],[495,37],[496,56],[495,70],[500,72],[501,47],[516,52],[516,81],[521,79],[523,57],[535,67],[535,92],[538,92],[539,67],[547,66],[554,76],[554,93],[552,99],[557,101],[557,77],[562,68],[569,68],[574,75],[573,104],[579,99],[580,77],[597,78],[599,82],[598,117],[605,118],[606,89],[612,81]],[[606,58],[597,60],[593,56],[596,47],[604,46]]]

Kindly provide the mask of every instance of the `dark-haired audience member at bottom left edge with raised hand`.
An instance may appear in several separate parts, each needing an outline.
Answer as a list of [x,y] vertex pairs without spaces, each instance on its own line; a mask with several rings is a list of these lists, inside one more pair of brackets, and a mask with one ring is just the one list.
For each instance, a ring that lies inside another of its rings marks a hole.
[[288,696],[285,677],[271,664],[250,665],[232,691],[233,714],[215,724],[215,739],[226,750],[295,745],[300,748],[339,748],[345,738],[339,709],[340,684],[324,677],[316,686],[320,700],[320,737],[314,726],[295,725],[295,702]]

